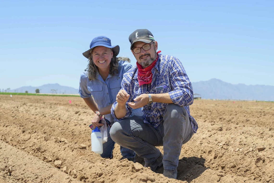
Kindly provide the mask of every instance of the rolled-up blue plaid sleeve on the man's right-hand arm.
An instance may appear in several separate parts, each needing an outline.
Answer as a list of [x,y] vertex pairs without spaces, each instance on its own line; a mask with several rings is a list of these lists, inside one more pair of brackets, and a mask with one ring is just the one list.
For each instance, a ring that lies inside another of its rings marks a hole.
[[169,96],[172,102],[179,106],[193,104],[192,84],[185,73],[182,63],[175,57],[173,57],[170,63],[169,70],[173,91],[169,92]]

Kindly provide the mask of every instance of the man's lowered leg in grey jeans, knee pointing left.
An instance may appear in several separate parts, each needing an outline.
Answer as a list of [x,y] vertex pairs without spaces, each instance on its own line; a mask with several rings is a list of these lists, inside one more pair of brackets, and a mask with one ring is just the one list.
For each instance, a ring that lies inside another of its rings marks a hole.
[[141,116],[115,122],[110,128],[110,136],[117,144],[135,151],[146,163],[151,164],[160,157],[161,152],[155,146],[162,142],[162,138],[153,126],[144,123]]

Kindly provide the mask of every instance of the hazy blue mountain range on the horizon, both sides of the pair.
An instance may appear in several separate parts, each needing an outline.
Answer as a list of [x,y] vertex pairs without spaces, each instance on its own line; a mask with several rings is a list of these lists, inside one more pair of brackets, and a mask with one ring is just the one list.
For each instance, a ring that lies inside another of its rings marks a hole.
[[[192,82],[192,87],[193,92],[200,94],[202,99],[274,101],[274,86],[272,85],[231,84],[212,78],[208,81]],[[39,87],[23,86],[10,91],[35,93],[37,88],[40,93],[78,94],[78,89],[61,86],[58,83]]]

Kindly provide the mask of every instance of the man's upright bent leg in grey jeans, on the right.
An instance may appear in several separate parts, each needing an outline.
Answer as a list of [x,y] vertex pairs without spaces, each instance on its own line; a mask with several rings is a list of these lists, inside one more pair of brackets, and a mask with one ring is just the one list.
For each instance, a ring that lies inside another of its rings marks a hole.
[[164,112],[164,176],[176,179],[182,144],[188,142],[193,129],[184,107],[168,104]]

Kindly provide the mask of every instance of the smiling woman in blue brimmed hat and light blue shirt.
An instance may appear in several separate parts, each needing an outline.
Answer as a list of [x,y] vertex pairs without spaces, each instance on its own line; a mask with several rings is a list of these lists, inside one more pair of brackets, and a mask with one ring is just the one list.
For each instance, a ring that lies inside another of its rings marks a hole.
[[[123,74],[132,68],[129,58],[116,57],[120,47],[112,46],[109,38],[99,36],[92,40],[90,49],[83,53],[89,59],[85,72],[81,73],[79,94],[85,103],[93,110],[95,116],[92,119],[93,127],[102,126],[99,123],[101,116],[113,124],[114,118],[110,113],[112,104],[116,101],[116,95],[121,89]],[[132,115],[142,116],[141,108],[133,110]],[[112,158],[115,142],[110,138],[108,129],[108,141],[103,144],[102,158]],[[127,158],[135,162],[135,152],[121,147],[123,159]]]

